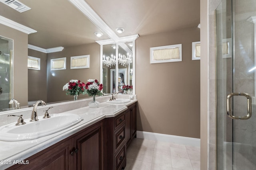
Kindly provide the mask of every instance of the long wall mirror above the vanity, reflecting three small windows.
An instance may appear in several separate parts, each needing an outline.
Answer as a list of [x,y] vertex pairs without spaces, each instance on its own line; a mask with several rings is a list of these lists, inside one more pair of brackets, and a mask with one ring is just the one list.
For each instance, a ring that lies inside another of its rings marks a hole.
[[[20,13],[0,2],[0,37],[14,41],[14,75],[11,77],[14,78],[14,95],[9,97],[9,92],[5,88],[2,90],[0,100],[1,97],[8,96],[0,111],[12,107],[8,104],[11,98],[17,99],[22,107],[28,107],[29,103],[34,104],[36,100],[44,100],[47,103],[73,100],[72,96],[66,95],[62,87],[71,79],[85,83],[90,78],[100,79],[100,45],[95,41],[110,37],[106,34],[96,37],[94,32],[102,30],[70,1],[20,2],[31,9]],[[21,24],[36,32],[24,33],[12,25],[6,25],[5,21],[14,21],[14,26]],[[2,41],[0,43],[2,44]],[[5,49],[8,49],[2,47],[0,65],[5,62]],[[56,52],[48,50],[55,47],[64,48]],[[81,55],[90,55],[90,68],[70,69],[70,57]],[[40,70],[28,69],[28,56],[40,59]],[[66,58],[66,70],[50,69],[50,60],[57,58]],[[0,72],[3,72],[2,70],[0,69]],[[86,97],[88,96],[81,95],[78,99]]]

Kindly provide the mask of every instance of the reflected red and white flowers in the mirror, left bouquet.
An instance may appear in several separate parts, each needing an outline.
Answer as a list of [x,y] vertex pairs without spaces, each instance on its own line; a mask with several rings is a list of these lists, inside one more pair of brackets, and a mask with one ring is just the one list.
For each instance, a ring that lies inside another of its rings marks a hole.
[[70,80],[68,83],[66,83],[62,90],[66,91],[66,95],[79,95],[79,94],[85,94],[85,84],[84,82],[81,82],[80,80]]

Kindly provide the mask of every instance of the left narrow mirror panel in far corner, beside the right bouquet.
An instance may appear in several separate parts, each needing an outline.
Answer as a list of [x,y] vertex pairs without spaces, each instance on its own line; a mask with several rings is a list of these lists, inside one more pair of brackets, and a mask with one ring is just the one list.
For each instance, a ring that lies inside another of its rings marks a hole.
[[[114,47],[114,48],[113,48]],[[104,85],[103,93],[110,94],[115,91],[116,79],[113,70],[116,70],[116,45],[108,44],[103,45],[102,49],[102,71]]]

